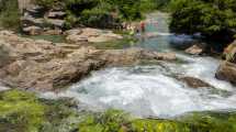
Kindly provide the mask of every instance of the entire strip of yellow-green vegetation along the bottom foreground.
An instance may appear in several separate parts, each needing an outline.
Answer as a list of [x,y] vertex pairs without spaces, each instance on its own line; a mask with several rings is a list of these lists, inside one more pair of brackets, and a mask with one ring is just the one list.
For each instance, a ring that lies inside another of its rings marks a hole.
[[235,112],[195,112],[173,120],[136,119],[120,110],[78,111],[71,99],[0,92],[1,132],[235,132]]

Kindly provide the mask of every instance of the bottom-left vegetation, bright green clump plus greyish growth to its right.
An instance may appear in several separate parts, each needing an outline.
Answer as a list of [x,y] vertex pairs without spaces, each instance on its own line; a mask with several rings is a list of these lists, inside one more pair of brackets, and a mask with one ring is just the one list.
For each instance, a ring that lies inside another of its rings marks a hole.
[[69,132],[79,114],[70,99],[45,100],[32,92],[0,92],[0,132]]

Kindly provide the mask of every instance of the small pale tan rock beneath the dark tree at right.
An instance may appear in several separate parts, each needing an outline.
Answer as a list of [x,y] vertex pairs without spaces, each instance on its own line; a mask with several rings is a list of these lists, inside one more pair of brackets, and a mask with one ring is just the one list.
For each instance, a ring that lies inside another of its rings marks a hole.
[[201,55],[205,52],[205,47],[202,44],[194,44],[193,46],[186,50],[186,53],[191,55]]

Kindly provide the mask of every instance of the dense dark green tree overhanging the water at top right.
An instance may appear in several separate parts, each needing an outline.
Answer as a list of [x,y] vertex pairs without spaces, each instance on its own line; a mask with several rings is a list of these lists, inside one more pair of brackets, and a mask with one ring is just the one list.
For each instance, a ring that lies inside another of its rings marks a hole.
[[236,30],[235,0],[172,0],[170,29],[178,33],[232,38]]

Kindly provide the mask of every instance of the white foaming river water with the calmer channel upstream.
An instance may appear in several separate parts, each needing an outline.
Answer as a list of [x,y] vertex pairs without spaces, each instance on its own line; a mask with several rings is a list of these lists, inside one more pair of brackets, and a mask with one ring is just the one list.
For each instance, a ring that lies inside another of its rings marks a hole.
[[[147,31],[158,35],[142,38],[136,46],[176,52],[181,63],[106,68],[92,73],[59,95],[74,97],[92,109],[122,109],[141,117],[169,118],[191,111],[235,109],[236,88],[214,77],[220,61],[176,51],[177,44],[194,40],[169,33],[168,15],[165,13],[150,14],[149,18],[158,25],[149,24]],[[176,75],[202,79],[214,88],[191,88],[178,80]]]

